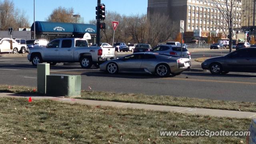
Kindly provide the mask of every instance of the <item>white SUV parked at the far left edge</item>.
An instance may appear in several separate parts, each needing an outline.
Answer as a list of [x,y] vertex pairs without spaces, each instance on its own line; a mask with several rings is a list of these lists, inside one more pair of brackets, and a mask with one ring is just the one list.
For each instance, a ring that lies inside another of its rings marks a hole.
[[[10,41],[12,41],[12,49]],[[11,38],[0,39],[0,53],[19,53],[23,51],[26,51],[26,45],[19,44]]]

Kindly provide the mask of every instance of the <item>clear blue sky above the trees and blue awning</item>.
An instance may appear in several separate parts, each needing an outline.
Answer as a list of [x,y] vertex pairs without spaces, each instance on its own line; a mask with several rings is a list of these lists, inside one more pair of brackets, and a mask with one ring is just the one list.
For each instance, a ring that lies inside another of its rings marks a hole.
[[[34,22],[34,0],[12,0],[15,8],[24,10],[30,24]],[[148,0],[101,0],[106,5],[106,11],[121,15],[146,14]],[[35,0],[35,20],[45,21],[55,8],[62,6],[74,8],[74,14],[84,17],[84,22],[95,19],[97,0]]]

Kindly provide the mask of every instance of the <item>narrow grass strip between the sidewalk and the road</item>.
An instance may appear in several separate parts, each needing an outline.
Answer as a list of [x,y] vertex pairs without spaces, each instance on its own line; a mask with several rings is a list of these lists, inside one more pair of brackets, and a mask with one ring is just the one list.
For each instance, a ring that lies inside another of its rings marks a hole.
[[[38,95],[33,91],[34,89],[36,88],[0,85],[0,92]],[[110,93],[99,91],[82,91],[81,95],[82,97],[78,97],[78,99],[256,112],[256,103],[250,102],[220,101],[211,99],[172,97],[166,95]]]

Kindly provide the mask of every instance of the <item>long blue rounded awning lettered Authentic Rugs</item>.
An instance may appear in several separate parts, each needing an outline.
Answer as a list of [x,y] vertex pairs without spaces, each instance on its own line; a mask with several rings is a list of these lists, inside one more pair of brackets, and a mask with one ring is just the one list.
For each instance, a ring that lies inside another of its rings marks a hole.
[[[96,26],[92,24],[76,24],[61,22],[36,21],[36,32],[64,32],[64,33],[90,33],[96,34]],[[34,23],[31,26],[34,31]]]

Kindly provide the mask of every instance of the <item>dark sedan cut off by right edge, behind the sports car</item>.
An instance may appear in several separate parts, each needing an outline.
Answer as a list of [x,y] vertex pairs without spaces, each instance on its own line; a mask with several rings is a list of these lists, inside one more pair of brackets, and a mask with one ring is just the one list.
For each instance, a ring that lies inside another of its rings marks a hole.
[[256,48],[241,48],[225,56],[206,59],[202,69],[208,69],[212,74],[226,74],[229,71],[256,72]]

